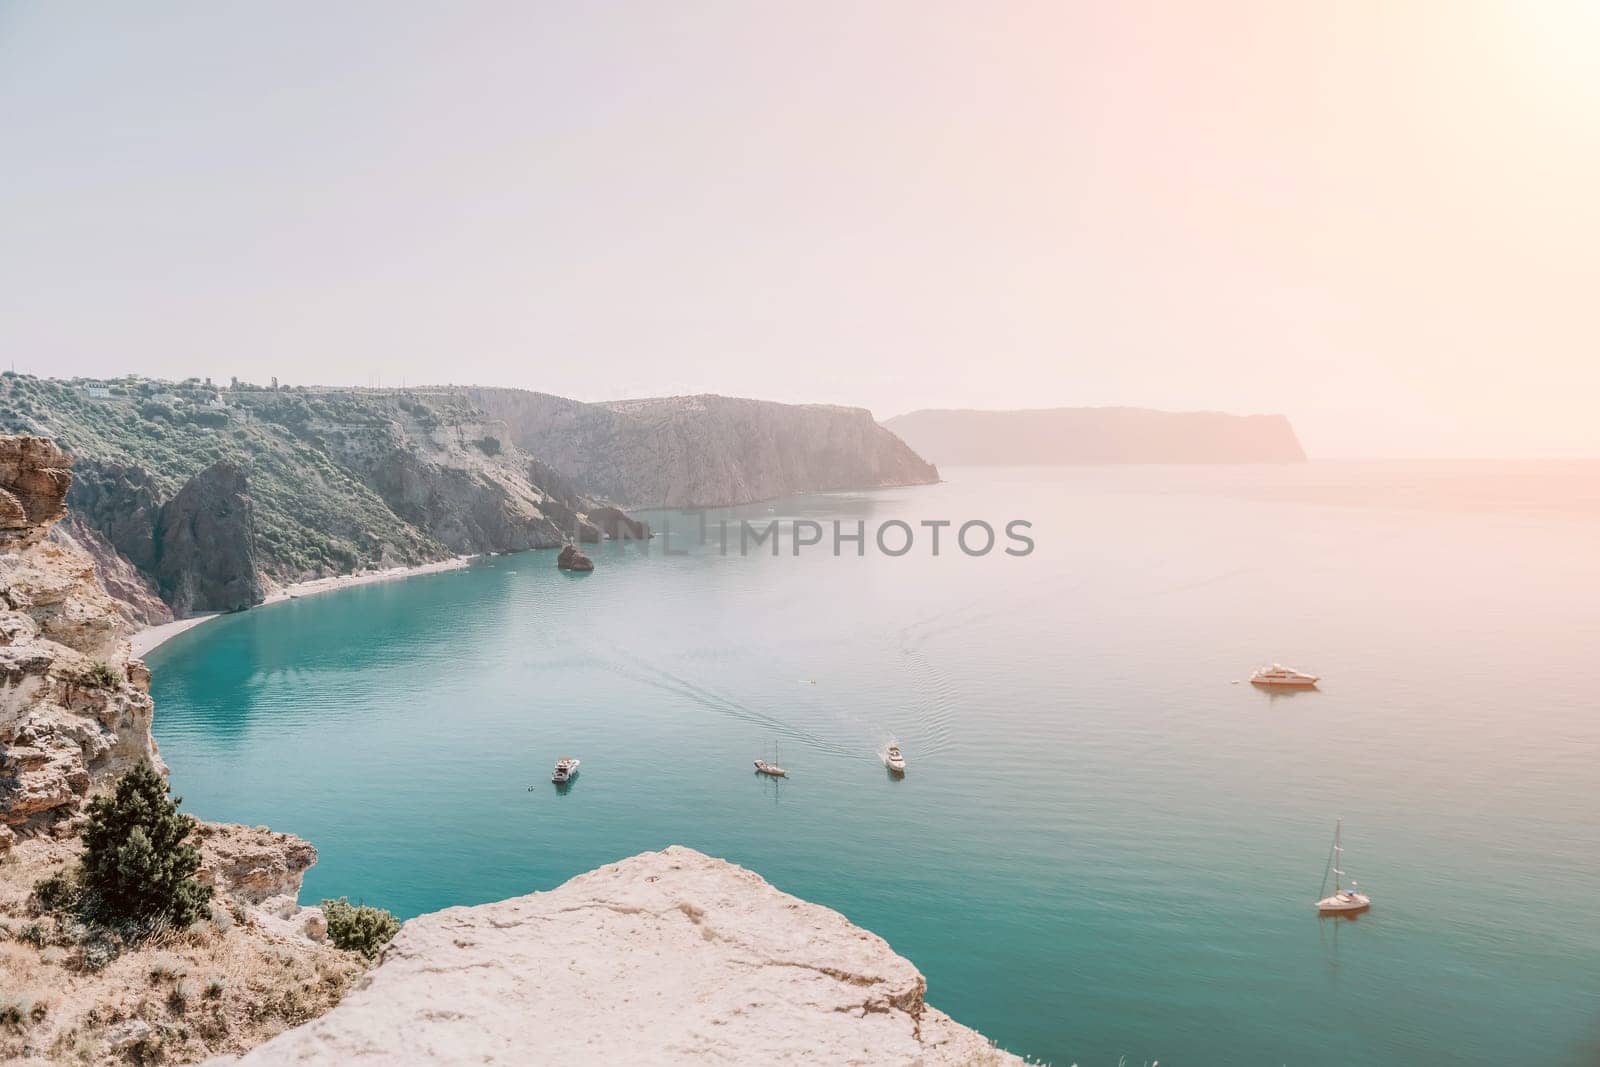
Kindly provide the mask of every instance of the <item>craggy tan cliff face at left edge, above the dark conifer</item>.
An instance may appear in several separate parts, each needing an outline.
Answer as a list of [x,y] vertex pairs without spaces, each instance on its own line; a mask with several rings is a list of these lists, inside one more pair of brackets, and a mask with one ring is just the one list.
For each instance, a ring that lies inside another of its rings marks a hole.
[[[69,461],[51,442],[0,437],[0,827],[34,829],[141,760],[150,737],[150,675],[128,656],[131,624],[94,561],[46,539],[61,517]],[[22,520],[29,520],[24,523]],[[0,841],[5,843],[5,841]]]

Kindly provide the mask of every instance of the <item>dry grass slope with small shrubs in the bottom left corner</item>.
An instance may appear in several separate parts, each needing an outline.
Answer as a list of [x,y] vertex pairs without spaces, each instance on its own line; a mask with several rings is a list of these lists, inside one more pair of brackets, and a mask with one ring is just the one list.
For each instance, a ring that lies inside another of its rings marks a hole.
[[109,953],[91,931],[29,909],[34,883],[75,859],[75,841],[46,840],[0,857],[0,1062],[242,1053],[328,1011],[365,969],[355,953],[235,921],[226,901],[221,923],[163,931],[94,969]]

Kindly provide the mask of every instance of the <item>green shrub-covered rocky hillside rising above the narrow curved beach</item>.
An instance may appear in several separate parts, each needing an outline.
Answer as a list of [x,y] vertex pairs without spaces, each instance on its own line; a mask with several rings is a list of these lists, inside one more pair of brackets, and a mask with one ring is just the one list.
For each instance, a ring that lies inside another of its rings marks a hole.
[[[269,584],[627,528],[459,390],[90,386],[6,373],[5,429],[72,453],[69,504],[93,531],[75,544],[118,595],[147,584],[178,614],[248,606]],[[122,581],[110,557],[136,581]],[[152,614],[134,601],[130,617]]]

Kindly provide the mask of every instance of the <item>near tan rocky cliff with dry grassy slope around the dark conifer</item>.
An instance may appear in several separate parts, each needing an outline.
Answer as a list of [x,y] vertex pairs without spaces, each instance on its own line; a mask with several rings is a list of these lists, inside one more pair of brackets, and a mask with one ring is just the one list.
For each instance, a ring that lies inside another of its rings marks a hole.
[[51,912],[35,896],[37,883],[77,864],[90,797],[136,763],[166,769],[150,737],[150,675],[130,657],[138,622],[75,547],[82,531],[51,530],[69,483],[69,459],[51,442],[0,437],[0,1061],[152,1064],[243,1051],[322,1014],[365,969],[325,944],[318,909],[299,907],[317,861],[309,843],[202,822],[197,877],[214,888],[211,918],[149,941]]

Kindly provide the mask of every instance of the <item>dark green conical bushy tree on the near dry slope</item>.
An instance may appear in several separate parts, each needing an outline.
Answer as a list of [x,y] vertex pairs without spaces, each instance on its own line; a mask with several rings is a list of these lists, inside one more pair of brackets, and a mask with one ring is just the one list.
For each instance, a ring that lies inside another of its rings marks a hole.
[[117,782],[112,797],[90,801],[83,827],[82,885],[101,918],[165,918],[187,926],[206,915],[211,886],[200,885],[200,849],[187,843],[192,816],[166,797],[166,781],[141,763]]

